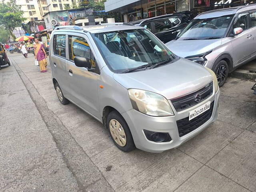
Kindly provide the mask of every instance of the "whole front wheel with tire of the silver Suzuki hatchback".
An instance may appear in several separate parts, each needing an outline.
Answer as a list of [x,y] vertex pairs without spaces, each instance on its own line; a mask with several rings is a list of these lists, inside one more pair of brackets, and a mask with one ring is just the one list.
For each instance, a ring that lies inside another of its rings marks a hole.
[[108,114],[107,127],[118,149],[123,152],[130,152],[136,149],[130,129],[124,118],[117,111],[114,110]]

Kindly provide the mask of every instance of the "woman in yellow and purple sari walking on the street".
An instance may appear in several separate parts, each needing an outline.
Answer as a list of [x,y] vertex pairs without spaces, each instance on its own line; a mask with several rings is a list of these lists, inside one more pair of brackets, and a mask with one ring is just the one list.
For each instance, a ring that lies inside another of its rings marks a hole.
[[47,72],[47,69],[46,69],[47,55],[44,50],[43,44],[39,43],[37,38],[35,38],[34,50],[35,50],[35,59],[38,60],[38,64],[40,66],[40,72],[41,73]]

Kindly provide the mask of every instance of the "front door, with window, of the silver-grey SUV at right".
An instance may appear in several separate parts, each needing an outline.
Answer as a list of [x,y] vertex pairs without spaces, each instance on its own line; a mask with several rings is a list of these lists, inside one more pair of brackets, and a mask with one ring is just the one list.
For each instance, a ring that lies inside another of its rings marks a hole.
[[234,36],[231,40],[234,66],[238,66],[249,60],[255,49],[254,36],[248,24],[248,15],[248,13],[238,15],[237,21],[233,24],[233,29],[238,27],[243,29],[241,34]]

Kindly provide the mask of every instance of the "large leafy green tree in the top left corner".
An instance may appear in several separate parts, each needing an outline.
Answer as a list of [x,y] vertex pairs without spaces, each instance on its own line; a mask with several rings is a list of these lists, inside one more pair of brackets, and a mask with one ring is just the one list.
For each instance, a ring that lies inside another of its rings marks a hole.
[[15,27],[20,27],[26,19],[23,17],[21,6],[16,5],[15,0],[0,3],[0,26],[8,29],[12,38],[16,39],[12,31]]

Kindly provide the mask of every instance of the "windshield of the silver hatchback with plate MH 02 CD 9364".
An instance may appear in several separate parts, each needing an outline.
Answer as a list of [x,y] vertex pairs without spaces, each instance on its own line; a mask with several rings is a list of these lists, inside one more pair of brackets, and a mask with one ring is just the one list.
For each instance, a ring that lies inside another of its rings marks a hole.
[[116,73],[174,60],[175,56],[145,29],[92,34],[106,64]]

